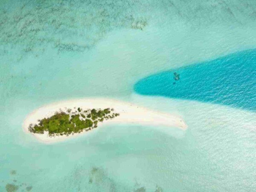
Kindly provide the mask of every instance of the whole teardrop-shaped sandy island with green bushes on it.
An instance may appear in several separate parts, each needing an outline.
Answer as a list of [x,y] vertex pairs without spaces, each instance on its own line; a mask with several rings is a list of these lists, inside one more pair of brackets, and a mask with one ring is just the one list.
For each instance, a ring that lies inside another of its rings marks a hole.
[[25,133],[49,144],[89,135],[102,125],[128,123],[187,128],[181,116],[107,98],[72,99],[44,105],[29,113],[22,127]]

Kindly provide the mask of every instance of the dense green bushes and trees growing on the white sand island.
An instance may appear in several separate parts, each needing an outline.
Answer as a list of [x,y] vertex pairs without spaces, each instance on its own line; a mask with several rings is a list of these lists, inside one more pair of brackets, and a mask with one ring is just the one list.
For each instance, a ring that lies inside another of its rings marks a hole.
[[78,108],[73,112],[72,109],[66,109],[66,112],[59,111],[48,118],[39,119],[38,124],[30,124],[29,131],[35,134],[44,134],[48,131],[49,136],[55,135],[70,135],[89,131],[97,128],[98,122],[113,119],[119,116],[119,113],[114,113],[113,109],[106,108],[104,110],[88,109],[83,111]]

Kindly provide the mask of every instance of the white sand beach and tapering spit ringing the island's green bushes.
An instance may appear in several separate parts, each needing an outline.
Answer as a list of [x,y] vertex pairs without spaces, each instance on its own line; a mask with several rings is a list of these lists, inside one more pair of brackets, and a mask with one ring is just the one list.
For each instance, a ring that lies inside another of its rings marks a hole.
[[[34,135],[39,141],[43,143],[55,143],[63,140],[67,140],[73,137],[77,137],[81,134],[89,134],[91,131],[83,132],[80,134],[73,134],[67,136],[56,136],[56,137],[48,137],[48,133],[45,134],[33,134],[28,130],[29,125],[38,123],[38,119],[42,119],[44,117],[52,116],[59,109],[65,111],[65,108],[82,108],[84,110],[90,108],[114,108],[115,113],[120,113],[120,116],[117,116],[114,119],[105,120],[103,123],[99,123],[99,128],[101,128],[102,124],[107,125],[111,123],[132,123],[139,125],[161,125],[166,127],[177,127],[183,130],[186,130],[187,125],[181,119],[180,116],[175,116],[169,113],[162,113],[158,111],[152,111],[147,108],[143,108],[140,106],[136,106],[127,102],[120,102],[118,100],[113,99],[102,99],[102,98],[88,98],[88,99],[75,99],[75,100],[67,100],[52,103],[49,105],[45,105],[41,108],[30,113],[26,116],[26,119],[23,122],[23,131],[28,134]],[[92,130],[94,131],[94,130]]]

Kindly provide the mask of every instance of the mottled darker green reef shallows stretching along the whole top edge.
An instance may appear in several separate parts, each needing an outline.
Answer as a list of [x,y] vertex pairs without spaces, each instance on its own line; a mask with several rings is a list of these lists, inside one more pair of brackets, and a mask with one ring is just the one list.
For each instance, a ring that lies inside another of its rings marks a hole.
[[[256,9],[251,0],[196,0],[191,4],[177,0],[10,2],[0,4],[0,55],[11,54],[9,48],[16,47],[21,51],[17,54],[17,61],[24,57],[23,54],[37,56],[49,47],[58,52],[84,52],[94,47],[108,32],[122,28],[143,30],[149,21],[161,27],[181,22],[195,29],[215,26],[216,23],[244,25],[254,22]],[[164,9],[160,5],[165,5]],[[163,15],[166,17],[164,22]]]

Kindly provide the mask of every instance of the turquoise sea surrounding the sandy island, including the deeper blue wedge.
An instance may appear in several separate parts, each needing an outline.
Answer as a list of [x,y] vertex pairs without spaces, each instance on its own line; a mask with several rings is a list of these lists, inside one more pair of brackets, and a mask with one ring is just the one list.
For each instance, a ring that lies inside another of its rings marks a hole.
[[[255,10],[253,0],[1,0],[0,191],[254,191]],[[189,127],[104,126],[52,145],[24,134],[31,111],[87,96]]]

